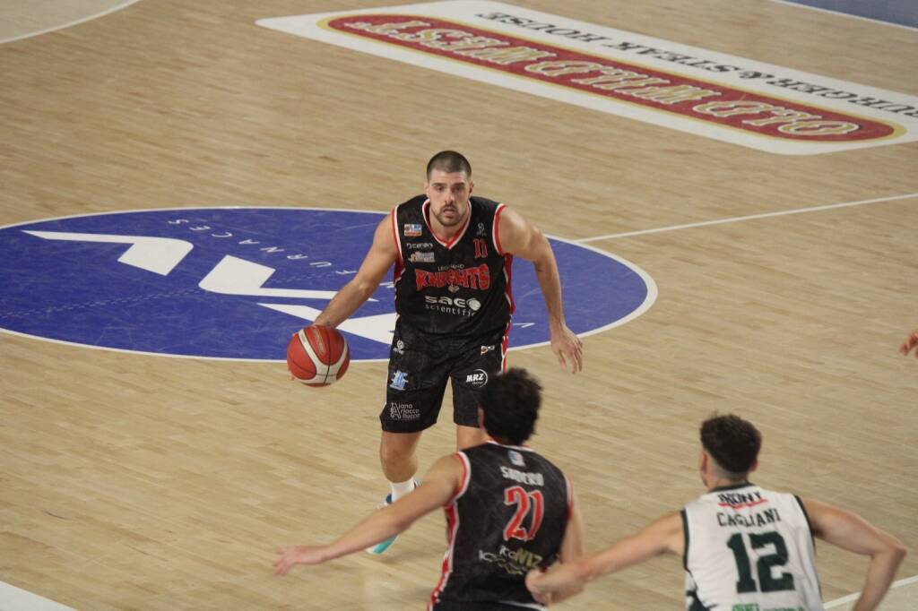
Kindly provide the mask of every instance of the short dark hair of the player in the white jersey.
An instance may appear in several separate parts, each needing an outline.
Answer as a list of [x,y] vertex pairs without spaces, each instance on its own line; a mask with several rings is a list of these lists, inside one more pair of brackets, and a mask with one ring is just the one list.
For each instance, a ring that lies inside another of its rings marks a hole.
[[701,423],[701,445],[724,471],[739,479],[756,462],[762,434],[741,417],[715,414]]

